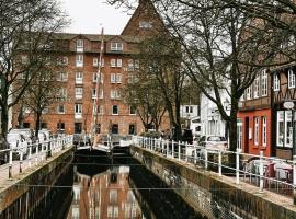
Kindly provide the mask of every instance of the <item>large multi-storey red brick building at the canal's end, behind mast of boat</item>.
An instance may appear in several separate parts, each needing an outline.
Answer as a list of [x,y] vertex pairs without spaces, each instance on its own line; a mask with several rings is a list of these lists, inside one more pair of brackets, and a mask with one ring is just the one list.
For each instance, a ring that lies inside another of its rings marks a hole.
[[[139,116],[134,107],[124,103],[121,90],[125,83],[133,81],[133,73],[138,68],[138,61],[133,59],[137,44],[163,30],[152,4],[139,1],[121,35],[57,34],[58,41],[66,47],[61,54],[65,68],[57,73],[57,81],[64,85],[58,93],[59,102],[43,114],[42,127],[54,132],[91,132],[94,100],[99,95],[98,124],[101,132],[143,132],[145,129]],[[102,39],[102,62],[99,65]],[[99,66],[101,79],[96,91]],[[18,124],[18,111],[15,107],[13,126]],[[24,126],[34,128],[34,116],[25,115]]]

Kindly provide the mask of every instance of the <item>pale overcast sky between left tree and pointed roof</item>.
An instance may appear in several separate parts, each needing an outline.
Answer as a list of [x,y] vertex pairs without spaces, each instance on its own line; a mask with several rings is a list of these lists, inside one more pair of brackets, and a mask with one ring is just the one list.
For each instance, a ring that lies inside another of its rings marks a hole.
[[[60,0],[62,9],[71,19],[67,33],[121,34],[130,18],[124,9],[109,5],[105,0]],[[102,24],[102,25],[100,25]]]

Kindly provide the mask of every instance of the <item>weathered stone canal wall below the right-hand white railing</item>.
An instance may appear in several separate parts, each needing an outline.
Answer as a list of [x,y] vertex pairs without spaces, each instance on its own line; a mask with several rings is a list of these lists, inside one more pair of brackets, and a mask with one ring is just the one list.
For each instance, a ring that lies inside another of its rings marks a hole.
[[235,184],[230,177],[177,162],[141,148],[132,147],[134,158],[145,164],[169,186],[175,188],[196,211],[208,218],[293,219],[296,207],[292,198],[264,191],[247,183]]

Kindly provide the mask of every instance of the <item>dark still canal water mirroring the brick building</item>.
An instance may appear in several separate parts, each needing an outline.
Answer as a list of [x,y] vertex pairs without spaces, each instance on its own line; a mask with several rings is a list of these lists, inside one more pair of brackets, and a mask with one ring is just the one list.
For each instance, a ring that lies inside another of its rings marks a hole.
[[110,158],[103,153],[79,151],[70,172],[72,198],[66,207],[60,205],[62,209],[56,209],[66,212],[59,218],[203,218],[128,154]]

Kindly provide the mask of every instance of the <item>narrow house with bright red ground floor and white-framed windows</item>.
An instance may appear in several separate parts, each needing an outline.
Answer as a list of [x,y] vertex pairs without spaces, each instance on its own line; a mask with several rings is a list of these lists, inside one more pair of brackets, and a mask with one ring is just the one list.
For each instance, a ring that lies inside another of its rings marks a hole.
[[243,152],[271,157],[272,151],[272,91],[271,77],[263,70],[246,90],[239,104],[238,148]]

